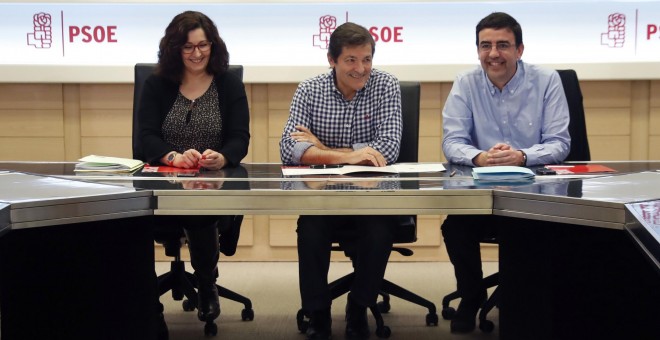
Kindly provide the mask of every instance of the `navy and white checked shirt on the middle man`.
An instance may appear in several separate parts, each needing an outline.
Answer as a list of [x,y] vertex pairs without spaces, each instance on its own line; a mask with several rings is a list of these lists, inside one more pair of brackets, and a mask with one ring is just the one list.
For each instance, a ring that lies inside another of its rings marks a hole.
[[300,83],[280,140],[284,164],[300,164],[312,146],[291,138],[297,125],[310,129],[329,148],[357,150],[369,146],[392,164],[399,156],[403,126],[399,81],[372,69],[364,88],[351,100],[344,99],[335,86],[334,70]]

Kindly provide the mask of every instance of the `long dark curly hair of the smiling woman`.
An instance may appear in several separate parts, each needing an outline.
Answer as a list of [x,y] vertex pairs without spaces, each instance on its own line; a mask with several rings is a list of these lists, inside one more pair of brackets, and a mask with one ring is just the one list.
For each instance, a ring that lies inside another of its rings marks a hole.
[[211,53],[206,72],[217,75],[227,71],[229,52],[227,51],[227,45],[220,38],[218,28],[205,14],[186,11],[172,19],[172,22],[165,29],[165,36],[160,39],[156,73],[174,82],[181,82],[183,77],[181,48],[188,42],[188,33],[198,28],[204,30],[206,39],[211,42]]

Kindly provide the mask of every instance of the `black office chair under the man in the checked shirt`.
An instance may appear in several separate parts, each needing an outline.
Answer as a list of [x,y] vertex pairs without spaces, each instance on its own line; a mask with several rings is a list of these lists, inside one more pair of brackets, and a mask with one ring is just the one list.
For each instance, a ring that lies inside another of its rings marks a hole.
[[[401,82],[401,114],[403,118],[403,131],[401,137],[401,146],[397,162],[417,162],[418,161],[418,144],[419,144],[419,96],[420,84],[418,82]],[[394,235],[394,243],[412,243],[417,241],[417,224],[416,216],[392,216],[398,218],[400,227],[397,228]],[[354,235],[339,234],[333,243],[354,238]],[[350,241],[348,247],[351,246]],[[345,244],[342,242],[342,244]],[[333,246],[332,250],[344,251],[348,257],[351,257],[350,249],[342,248],[341,246]],[[392,251],[396,251],[403,256],[411,256],[413,251],[404,247],[392,247]],[[354,273],[347,274],[329,284],[330,294],[332,299],[342,296],[350,290],[351,283],[354,278]],[[394,295],[406,301],[426,307],[429,313],[426,315],[426,324],[428,326],[438,325],[438,315],[436,313],[435,304],[408,291],[388,280],[383,279],[381,284],[380,295],[383,301],[378,302],[376,306],[371,306],[372,315],[376,319],[376,335],[380,338],[388,338],[391,334],[389,327],[385,326],[381,313],[387,313],[390,310],[390,295]],[[300,309],[296,315],[298,330],[300,332],[307,331],[309,326],[309,315],[306,311]]]

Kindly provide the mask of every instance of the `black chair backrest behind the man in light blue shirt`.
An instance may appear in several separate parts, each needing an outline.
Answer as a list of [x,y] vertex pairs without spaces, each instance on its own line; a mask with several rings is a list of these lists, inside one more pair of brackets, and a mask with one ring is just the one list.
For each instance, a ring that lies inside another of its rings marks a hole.
[[582,90],[577,73],[574,70],[557,70],[561,83],[564,86],[568,111],[571,118],[568,132],[571,135],[571,151],[566,161],[590,161],[589,140],[587,138],[587,123],[584,117],[582,104]]

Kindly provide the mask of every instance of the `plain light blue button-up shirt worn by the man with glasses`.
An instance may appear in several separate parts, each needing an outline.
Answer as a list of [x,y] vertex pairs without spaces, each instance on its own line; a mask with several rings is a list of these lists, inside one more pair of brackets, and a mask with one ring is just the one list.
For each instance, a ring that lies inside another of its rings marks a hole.
[[472,159],[497,143],[527,154],[527,165],[561,163],[570,151],[568,104],[556,71],[518,61],[500,91],[481,67],[456,77],[442,111],[448,161]]

